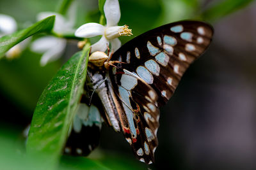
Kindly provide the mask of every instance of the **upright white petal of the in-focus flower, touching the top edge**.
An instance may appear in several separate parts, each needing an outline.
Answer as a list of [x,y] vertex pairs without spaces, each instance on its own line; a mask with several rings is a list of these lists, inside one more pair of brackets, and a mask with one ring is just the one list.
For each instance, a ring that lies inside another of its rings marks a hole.
[[106,0],[104,13],[107,20],[107,27],[117,25],[121,17],[118,0]]

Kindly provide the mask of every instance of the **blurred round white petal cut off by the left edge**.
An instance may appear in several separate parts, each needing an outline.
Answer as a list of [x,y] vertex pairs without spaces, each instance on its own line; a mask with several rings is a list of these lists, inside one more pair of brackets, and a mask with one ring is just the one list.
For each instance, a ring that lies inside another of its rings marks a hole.
[[10,17],[9,15],[0,14],[0,32],[3,32],[3,34],[1,33],[1,36],[11,34],[16,30],[17,24],[15,19],[13,17]]

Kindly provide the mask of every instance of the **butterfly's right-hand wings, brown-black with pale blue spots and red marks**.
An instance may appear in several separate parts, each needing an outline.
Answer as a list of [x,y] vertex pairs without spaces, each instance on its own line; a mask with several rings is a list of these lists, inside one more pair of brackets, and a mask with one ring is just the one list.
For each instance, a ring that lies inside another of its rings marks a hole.
[[212,34],[204,22],[175,22],[141,34],[113,54],[111,60],[125,62],[112,67],[109,77],[124,108],[120,120],[130,120],[121,124],[124,136],[139,160],[154,161],[158,106],[170,99],[189,64],[211,43]]

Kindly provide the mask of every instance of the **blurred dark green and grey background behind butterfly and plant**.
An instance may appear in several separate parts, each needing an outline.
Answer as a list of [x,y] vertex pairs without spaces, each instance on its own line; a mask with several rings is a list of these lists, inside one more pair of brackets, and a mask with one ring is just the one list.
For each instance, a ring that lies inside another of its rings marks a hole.
[[[256,169],[256,3],[239,6],[238,1],[227,2],[120,1],[119,25],[129,25],[134,36],[194,18],[212,24],[214,38],[160,109],[156,164],[138,162],[122,134],[105,125],[92,159],[109,169]],[[99,22],[98,1],[76,3],[76,28]],[[14,17],[22,29],[36,22],[40,11],[56,11],[58,4],[51,0],[0,0],[0,13]],[[218,4],[222,6],[217,8]],[[225,13],[234,4],[238,8]],[[125,43],[131,38],[120,39]],[[36,102],[52,76],[78,50],[76,43],[69,40],[63,57],[45,67],[39,65],[41,55],[29,48],[17,59],[0,60],[0,139],[12,143],[14,152],[24,150],[22,131],[31,122]],[[68,166],[65,160],[63,164]]]

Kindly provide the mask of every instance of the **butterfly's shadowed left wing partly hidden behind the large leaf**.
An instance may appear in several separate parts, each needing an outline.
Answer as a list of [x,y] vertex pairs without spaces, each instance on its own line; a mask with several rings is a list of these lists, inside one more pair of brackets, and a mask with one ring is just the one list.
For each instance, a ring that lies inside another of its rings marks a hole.
[[102,106],[90,105],[83,96],[64,148],[66,155],[87,156],[99,145]]

